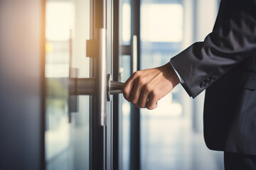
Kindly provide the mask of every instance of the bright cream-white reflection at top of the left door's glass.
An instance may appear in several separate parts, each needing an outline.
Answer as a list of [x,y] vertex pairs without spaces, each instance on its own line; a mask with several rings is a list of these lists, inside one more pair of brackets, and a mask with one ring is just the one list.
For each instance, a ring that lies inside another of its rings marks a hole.
[[46,77],[68,77],[70,29],[75,6],[69,1],[46,3]]

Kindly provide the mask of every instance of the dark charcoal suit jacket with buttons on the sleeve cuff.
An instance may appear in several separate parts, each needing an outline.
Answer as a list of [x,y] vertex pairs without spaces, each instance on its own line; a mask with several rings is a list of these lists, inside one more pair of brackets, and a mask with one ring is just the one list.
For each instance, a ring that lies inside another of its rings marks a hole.
[[223,0],[213,32],[171,59],[189,96],[206,89],[210,149],[256,155],[256,0]]

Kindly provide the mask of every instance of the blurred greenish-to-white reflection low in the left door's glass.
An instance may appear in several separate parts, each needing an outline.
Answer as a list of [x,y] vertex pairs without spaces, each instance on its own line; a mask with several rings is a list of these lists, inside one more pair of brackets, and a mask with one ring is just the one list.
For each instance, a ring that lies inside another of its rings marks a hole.
[[47,79],[46,84],[46,159],[50,160],[68,147],[68,91],[65,82]]

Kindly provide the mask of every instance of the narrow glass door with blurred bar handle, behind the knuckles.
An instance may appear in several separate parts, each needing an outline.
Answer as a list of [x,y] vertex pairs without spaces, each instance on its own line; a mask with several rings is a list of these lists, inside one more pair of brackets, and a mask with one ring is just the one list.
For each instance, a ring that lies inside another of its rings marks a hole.
[[[140,69],[140,0],[119,0],[119,79]],[[119,169],[140,169],[140,113],[119,97]]]

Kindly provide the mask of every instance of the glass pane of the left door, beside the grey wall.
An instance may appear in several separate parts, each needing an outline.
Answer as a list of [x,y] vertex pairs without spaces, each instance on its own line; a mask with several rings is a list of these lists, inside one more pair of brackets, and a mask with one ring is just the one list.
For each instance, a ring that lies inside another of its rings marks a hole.
[[[46,169],[89,169],[89,97],[68,123],[69,67],[89,77],[90,0],[46,1]],[[70,55],[73,60],[70,61]],[[72,65],[70,65],[72,63]]]

